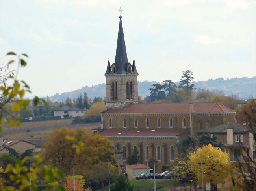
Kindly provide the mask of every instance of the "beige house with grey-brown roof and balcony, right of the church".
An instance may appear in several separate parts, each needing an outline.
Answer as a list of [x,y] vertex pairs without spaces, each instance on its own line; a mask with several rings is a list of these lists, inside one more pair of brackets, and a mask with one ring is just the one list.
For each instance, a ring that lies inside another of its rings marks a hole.
[[[249,157],[256,160],[256,143],[248,126],[228,122],[226,124],[204,128],[196,131],[197,136],[204,134],[217,135],[218,142],[224,143],[224,151],[228,154],[230,162],[240,170],[251,168]],[[208,189],[209,185],[206,186]],[[228,187],[226,184],[218,184],[218,188]]]

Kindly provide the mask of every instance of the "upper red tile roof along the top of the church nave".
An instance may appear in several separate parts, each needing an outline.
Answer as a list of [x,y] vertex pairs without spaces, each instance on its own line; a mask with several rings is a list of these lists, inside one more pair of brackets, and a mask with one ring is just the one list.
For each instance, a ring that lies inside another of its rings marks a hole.
[[[194,113],[235,113],[220,103],[191,103]],[[124,109],[108,109],[104,113],[189,113],[190,103],[130,104]]]

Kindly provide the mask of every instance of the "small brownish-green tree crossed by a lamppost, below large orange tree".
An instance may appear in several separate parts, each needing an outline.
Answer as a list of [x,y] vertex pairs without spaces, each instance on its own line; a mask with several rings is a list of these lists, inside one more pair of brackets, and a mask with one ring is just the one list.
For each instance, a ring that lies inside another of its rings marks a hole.
[[[101,184],[102,188],[105,187],[104,182],[108,180],[108,162],[100,162],[98,164],[93,165],[89,169],[90,173],[87,173],[86,180],[87,181],[95,181],[98,184]],[[99,173],[100,172],[100,173]],[[110,182],[113,182],[114,177],[119,173],[119,169],[112,164],[109,164],[109,175]]]

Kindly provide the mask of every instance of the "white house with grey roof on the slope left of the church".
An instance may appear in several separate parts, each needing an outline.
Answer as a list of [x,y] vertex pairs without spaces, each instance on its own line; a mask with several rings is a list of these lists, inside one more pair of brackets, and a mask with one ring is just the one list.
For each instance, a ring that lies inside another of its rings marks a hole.
[[53,115],[54,116],[61,116],[61,118],[64,117],[76,117],[76,116],[83,116],[83,109],[80,109],[78,107],[69,107],[69,106],[63,106],[56,109],[53,109]]

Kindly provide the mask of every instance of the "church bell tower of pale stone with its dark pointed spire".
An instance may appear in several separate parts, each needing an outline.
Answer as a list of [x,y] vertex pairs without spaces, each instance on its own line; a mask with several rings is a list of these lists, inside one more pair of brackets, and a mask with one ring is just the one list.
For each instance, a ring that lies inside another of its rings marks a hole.
[[[121,8],[120,8],[121,10]],[[119,16],[117,51],[115,62],[108,60],[106,76],[106,106],[108,109],[122,109],[130,103],[138,103],[138,72],[135,60],[128,62],[122,29],[122,16]]]

